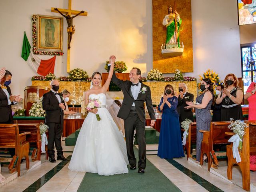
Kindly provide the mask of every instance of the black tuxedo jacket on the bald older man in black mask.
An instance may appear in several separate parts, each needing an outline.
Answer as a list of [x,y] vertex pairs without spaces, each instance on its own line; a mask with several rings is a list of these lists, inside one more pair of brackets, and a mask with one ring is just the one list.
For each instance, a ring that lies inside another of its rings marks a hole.
[[[64,104],[62,95],[60,94],[61,102]],[[45,110],[45,123],[61,123],[63,124],[64,112],[59,106],[59,101],[52,91],[43,95],[42,100],[43,110]]]

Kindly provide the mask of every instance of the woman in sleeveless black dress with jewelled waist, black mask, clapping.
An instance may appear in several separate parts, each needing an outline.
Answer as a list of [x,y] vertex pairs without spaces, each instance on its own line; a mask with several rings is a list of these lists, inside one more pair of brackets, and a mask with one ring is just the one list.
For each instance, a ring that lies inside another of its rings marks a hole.
[[216,103],[221,103],[221,121],[242,120],[243,113],[241,103],[243,100],[242,89],[238,86],[237,77],[230,73],[224,79],[225,88],[216,99]]

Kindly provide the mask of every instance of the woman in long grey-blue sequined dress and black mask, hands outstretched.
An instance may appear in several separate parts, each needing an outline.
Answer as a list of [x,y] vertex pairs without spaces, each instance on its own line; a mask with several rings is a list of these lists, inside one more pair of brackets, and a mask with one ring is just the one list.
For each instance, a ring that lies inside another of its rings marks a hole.
[[[201,144],[203,139],[203,134],[199,130],[210,130],[210,123],[212,116],[210,113],[210,108],[212,106],[213,100],[213,89],[212,82],[208,78],[204,78],[201,81],[200,89],[203,91],[201,95],[196,98],[196,104],[193,102],[186,102],[188,106],[186,109],[192,107],[196,108],[196,162],[199,163],[201,156]],[[203,160],[206,160],[206,155],[204,155]],[[202,162],[201,162],[202,164]]]

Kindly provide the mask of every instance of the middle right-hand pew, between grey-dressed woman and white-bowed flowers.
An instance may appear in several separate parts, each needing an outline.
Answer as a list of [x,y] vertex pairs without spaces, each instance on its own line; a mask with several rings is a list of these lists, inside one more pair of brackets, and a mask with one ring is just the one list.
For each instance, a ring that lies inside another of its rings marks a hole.
[[230,136],[226,135],[225,132],[229,132],[228,125],[229,121],[223,122],[211,122],[210,131],[199,130],[204,134],[201,146],[201,156],[200,165],[203,165],[203,157],[206,154],[208,159],[208,171],[212,166],[212,158],[210,156],[210,151],[213,150],[214,144],[230,144],[228,142]]

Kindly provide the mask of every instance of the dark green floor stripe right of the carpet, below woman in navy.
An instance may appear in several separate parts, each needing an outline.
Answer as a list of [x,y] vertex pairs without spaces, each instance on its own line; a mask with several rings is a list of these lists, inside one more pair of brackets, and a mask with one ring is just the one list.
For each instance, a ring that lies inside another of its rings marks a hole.
[[222,191],[220,188],[216,187],[215,185],[211,184],[204,178],[200,177],[198,174],[192,172],[188,168],[184,167],[183,165],[179,164],[173,159],[166,159],[170,164],[172,164],[174,167],[176,167],[178,170],[182,171],[184,174],[189,176],[192,180],[197,182],[199,185],[201,185],[203,188],[205,188],[208,191]]

